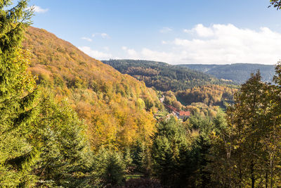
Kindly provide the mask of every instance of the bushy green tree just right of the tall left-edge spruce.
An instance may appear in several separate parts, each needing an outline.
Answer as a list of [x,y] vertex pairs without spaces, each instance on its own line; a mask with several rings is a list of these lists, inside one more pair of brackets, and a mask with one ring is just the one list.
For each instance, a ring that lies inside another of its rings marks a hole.
[[35,142],[41,143],[41,155],[34,174],[38,186],[87,187],[90,182],[92,154],[84,130],[67,101],[55,101],[44,90],[38,106],[40,115],[34,125]]

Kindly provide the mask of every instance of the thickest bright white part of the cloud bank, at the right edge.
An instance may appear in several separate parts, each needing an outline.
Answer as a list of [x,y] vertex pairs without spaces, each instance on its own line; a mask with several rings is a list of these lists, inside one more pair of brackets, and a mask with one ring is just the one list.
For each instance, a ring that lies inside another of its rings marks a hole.
[[234,25],[197,25],[192,28],[198,37],[208,39],[174,39],[174,44],[186,51],[197,63],[276,63],[281,55],[281,33],[267,27],[249,30]]

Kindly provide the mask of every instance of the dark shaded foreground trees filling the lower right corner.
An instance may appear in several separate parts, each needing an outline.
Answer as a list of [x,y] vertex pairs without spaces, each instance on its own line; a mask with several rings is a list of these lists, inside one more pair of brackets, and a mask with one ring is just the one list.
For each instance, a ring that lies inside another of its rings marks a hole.
[[281,63],[275,84],[252,74],[235,103],[215,118],[194,115],[159,124],[152,172],[171,187],[281,186]]

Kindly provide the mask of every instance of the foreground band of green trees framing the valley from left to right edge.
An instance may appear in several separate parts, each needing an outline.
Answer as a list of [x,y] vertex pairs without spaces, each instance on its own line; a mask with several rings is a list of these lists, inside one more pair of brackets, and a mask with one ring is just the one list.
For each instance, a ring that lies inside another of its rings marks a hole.
[[[25,0],[8,9],[11,2],[0,1],[1,187],[281,186],[281,63],[275,84],[252,74],[226,113],[195,114],[182,123],[159,112],[150,137],[133,134],[118,145],[108,144],[119,142],[105,135],[96,147],[69,101],[38,85],[27,70],[30,54],[21,41],[32,9]],[[143,99],[133,104],[136,111],[153,106]],[[138,127],[141,119],[134,120],[121,124],[147,135],[150,124]],[[126,181],[134,173],[143,178]]]

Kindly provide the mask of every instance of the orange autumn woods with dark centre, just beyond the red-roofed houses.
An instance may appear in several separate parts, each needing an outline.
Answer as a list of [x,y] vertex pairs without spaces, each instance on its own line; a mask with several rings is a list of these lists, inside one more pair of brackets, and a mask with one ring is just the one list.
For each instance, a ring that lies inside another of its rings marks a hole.
[[178,110],[190,111],[192,115],[215,118],[228,104],[233,104],[237,89],[219,85],[194,87],[178,92],[162,92],[164,104]]

